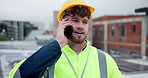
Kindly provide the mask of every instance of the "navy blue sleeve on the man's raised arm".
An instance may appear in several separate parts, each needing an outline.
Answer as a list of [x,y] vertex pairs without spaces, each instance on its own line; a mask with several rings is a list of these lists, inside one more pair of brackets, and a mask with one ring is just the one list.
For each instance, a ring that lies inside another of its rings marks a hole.
[[19,67],[21,78],[38,78],[40,72],[52,66],[61,53],[61,48],[56,40],[43,46]]

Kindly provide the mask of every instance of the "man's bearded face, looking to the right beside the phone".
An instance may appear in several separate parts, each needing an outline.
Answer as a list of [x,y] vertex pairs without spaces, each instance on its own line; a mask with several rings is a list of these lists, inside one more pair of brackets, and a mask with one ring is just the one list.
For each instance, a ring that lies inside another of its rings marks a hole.
[[89,20],[87,17],[69,16],[69,21],[73,26],[72,38],[70,41],[74,43],[82,43],[85,41],[88,33]]

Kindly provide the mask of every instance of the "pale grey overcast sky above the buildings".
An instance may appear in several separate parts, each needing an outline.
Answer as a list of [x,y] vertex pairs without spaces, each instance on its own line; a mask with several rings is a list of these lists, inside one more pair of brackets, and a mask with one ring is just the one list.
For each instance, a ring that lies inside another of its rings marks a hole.
[[[66,0],[0,0],[0,20],[35,21],[53,24],[53,11]],[[105,15],[144,14],[135,9],[148,7],[148,0],[85,0],[95,7],[93,18]]]

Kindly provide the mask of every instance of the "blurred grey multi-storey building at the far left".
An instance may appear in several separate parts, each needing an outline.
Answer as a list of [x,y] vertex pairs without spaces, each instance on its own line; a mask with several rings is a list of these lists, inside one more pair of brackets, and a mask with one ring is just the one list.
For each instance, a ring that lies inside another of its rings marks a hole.
[[27,21],[0,21],[1,35],[5,35],[10,40],[24,40],[25,37],[34,29],[38,28]]

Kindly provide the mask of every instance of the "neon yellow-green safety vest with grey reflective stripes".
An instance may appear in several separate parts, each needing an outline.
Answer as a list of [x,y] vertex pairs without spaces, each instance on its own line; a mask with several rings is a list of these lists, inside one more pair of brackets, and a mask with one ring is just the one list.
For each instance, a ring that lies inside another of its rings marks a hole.
[[[55,65],[45,71],[44,78],[123,78],[113,58],[101,50],[97,51],[88,41],[86,48],[78,55],[68,45],[62,48],[62,52]],[[16,74],[17,69],[23,62],[11,70],[9,78],[19,75]]]

